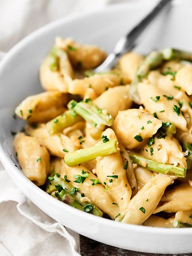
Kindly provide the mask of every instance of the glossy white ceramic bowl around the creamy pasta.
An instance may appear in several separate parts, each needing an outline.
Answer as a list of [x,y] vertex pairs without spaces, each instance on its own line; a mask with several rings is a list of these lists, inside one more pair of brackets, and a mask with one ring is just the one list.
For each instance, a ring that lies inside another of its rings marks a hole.
[[[108,52],[150,6],[140,3],[112,5],[99,12],[55,21],[27,36],[6,54],[0,63],[0,159],[16,185],[42,211],[72,230],[97,241],[124,249],[153,253],[192,252],[192,228],[168,229],[117,223],[81,212],[55,200],[28,180],[14,166],[10,131],[19,131],[23,122],[12,118],[16,105],[26,96],[41,92],[38,69],[55,36],[72,36],[94,43]],[[175,5],[164,12],[140,39],[139,50],[174,46],[191,50],[192,6]]]

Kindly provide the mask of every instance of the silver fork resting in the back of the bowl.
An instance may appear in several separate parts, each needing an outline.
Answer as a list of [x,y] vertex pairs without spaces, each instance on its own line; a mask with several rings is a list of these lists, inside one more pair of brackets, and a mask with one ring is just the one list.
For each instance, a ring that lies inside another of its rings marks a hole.
[[161,0],[148,15],[142,19],[132,30],[125,36],[121,37],[115,45],[114,52],[111,52],[106,60],[97,68],[94,69],[95,73],[103,72],[111,69],[117,60],[125,52],[132,50],[135,47],[135,41],[143,32],[143,30],[151,23],[156,15],[172,0]]

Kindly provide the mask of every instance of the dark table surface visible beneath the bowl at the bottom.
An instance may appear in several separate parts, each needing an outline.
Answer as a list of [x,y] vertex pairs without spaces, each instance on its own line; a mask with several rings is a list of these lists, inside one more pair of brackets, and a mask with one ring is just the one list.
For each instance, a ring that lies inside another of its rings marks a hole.
[[82,256],[192,256],[192,253],[188,254],[153,254],[144,252],[133,252],[110,245],[96,242],[85,236],[80,236],[80,247]]

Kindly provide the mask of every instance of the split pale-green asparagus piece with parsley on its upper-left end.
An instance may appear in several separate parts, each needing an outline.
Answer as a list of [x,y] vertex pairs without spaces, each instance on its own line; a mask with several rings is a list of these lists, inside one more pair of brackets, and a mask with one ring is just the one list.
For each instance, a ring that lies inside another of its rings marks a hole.
[[87,122],[97,128],[103,128],[105,125],[113,125],[113,117],[108,113],[103,113],[102,109],[92,103],[91,99],[76,102],[71,100],[68,103],[68,108],[82,116]]

